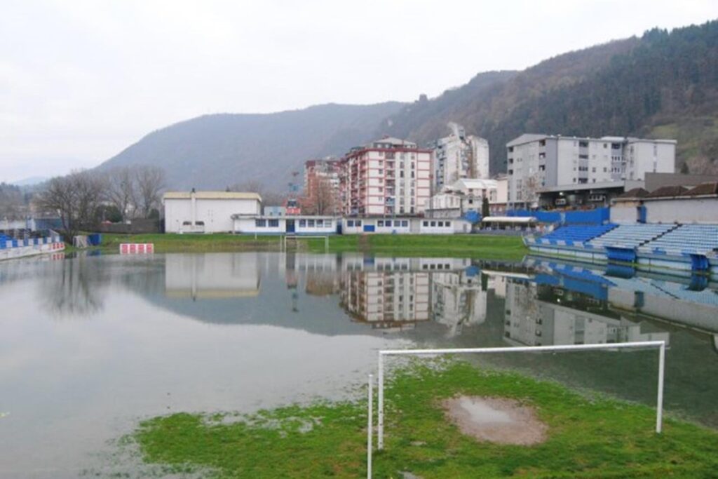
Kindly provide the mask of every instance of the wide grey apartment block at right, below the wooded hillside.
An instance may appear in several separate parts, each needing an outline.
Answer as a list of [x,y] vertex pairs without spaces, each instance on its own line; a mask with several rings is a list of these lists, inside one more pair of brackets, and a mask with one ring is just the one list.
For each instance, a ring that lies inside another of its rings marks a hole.
[[[523,134],[506,149],[508,203],[515,206],[538,205],[540,192],[590,192],[641,182],[646,172],[673,172],[676,162],[676,141],[665,139]],[[593,196],[607,201],[605,195]],[[592,201],[592,195],[584,200]]]

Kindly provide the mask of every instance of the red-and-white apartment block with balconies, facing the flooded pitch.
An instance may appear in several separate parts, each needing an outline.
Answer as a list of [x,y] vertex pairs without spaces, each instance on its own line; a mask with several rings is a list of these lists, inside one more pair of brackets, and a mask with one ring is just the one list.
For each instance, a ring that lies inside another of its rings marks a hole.
[[383,138],[356,147],[342,159],[345,215],[419,215],[431,190],[432,151],[415,143]]

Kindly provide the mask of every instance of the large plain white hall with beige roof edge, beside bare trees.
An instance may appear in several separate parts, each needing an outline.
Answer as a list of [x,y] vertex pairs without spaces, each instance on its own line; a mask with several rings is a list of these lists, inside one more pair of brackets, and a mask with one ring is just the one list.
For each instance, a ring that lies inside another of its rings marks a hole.
[[170,191],[164,193],[165,233],[230,233],[233,215],[261,215],[257,193]]

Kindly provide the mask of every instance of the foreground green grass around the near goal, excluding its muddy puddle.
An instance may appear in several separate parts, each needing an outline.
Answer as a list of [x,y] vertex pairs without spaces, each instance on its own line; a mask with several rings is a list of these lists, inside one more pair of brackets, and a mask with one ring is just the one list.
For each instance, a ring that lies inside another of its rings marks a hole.
[[[439,399],[503,396],[533,406],[549,426],[533,447],[467,437],[444,419]],[[518,373],[454,361],[414,366],[386,389],[386,449],[374,477],[709,478],[718,470],[718,433],[655,409],[586,396]],[[144,462],[213,478],[357,478],[365,475],[365,401],[317,403],[233,414],[172,414],[141,422],[134,434]],[[235,419],[223,422],[223,419]]]

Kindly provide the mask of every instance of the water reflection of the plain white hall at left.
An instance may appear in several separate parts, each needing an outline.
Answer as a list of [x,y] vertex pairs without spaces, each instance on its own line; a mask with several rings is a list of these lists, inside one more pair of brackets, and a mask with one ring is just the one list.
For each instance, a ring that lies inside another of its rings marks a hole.
[[259,294],[256,254],[168,254],[167,296],[192,299],[250,297]]

